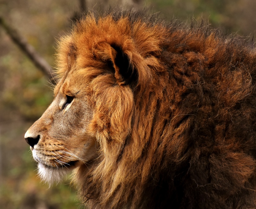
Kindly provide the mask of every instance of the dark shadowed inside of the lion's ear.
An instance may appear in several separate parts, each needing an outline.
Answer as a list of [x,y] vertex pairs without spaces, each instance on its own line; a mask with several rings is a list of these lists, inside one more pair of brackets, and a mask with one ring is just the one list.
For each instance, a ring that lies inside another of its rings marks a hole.
[[129,57],[124,53],[121,47],[112,44],[111,47],[111,64],[114,68],[115,78],[118,84],[131,84],[136,80],[137,72],[130,64]]

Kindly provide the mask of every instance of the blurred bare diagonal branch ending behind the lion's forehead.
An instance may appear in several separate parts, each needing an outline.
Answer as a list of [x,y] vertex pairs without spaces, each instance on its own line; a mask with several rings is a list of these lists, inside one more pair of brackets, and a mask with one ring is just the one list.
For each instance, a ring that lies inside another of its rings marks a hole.
[[16,43],[19,48],[31,59],[35,66],[39,68],[53,84],[55,84],[55,81],[52,79],[52,67],[37,53],[37,51],[35,51],[35,48],[30,45],[17,30],[8,25],[2,17],[0,17],[0,25],[5,29],[13,42]]

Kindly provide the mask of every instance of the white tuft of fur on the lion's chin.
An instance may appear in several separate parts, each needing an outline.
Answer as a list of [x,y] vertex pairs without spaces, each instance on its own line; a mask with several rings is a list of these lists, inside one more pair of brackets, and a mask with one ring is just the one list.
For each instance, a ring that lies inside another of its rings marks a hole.
[[67,168],[52,168],[45,166],[43,163],[38,163],[38,174],[39,177],[44,181],[47,182],[50,186],[53,183],[60,182],[63,177],[67,174]]

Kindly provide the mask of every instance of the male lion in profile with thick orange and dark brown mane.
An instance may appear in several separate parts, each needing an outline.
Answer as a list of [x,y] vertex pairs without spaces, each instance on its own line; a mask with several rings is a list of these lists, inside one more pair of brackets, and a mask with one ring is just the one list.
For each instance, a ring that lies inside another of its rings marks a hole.
[[[192,27],[191,27],[192,26]],[[88,13],[25,138],[88,208],[255,208],[256,50],[204,25]]]

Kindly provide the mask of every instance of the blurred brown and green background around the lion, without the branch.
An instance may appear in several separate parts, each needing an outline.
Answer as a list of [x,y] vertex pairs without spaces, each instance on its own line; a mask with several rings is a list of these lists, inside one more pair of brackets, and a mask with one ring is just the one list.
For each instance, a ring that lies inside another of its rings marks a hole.
[[248,42],[256,30],[255,0],[0,0],[0,208],[83,208],[69,176],[50,189],[37,176],[24,134],[51,103],[52,84],[6,28],[15,29],[54,68],[56,39],[70,30],[77,14],[109,5],[146,7],[161,18],[188,23],[203,18]]

